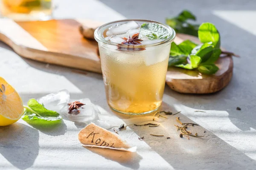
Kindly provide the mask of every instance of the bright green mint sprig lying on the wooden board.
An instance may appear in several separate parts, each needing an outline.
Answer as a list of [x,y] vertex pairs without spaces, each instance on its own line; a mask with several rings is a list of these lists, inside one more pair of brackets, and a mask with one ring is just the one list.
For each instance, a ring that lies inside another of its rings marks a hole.
[[172,42],[169,66],[198,70],[202,74],[215,74],[218,67],[214,64],[221,55],[220,35],[212,23],[203,23],[199,27],[198,45],[185,40],[179,45]]

